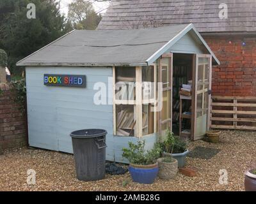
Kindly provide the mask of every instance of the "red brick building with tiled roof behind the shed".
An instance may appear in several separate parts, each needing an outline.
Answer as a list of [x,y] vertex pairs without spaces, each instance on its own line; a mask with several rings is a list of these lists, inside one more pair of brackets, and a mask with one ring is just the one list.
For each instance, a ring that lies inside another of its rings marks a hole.
[[[236,2],[112,0],[98,29],[193,23],[221,61],[213,68],[212,94],[256,96],[256,1]],[[222,3],[227,5],[227,18],[220,18]]]

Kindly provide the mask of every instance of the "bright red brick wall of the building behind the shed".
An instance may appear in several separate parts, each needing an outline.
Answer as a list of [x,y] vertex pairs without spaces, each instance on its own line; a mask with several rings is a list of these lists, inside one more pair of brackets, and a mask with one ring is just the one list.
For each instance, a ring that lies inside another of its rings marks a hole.
[[204,36],[204,39],[221,61],[220,66],[212,69],[212,94],[256,96],[256,37]]

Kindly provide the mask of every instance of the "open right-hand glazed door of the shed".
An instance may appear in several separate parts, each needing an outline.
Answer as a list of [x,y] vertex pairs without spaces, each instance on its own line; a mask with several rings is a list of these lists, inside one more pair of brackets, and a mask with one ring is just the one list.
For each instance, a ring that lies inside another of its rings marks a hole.
[[193,80],[193,120],[194,128],[192,140],[204,137],[210,125],[211,109],[211,81],[212,81],[212,56],[195,55],[195,69]]

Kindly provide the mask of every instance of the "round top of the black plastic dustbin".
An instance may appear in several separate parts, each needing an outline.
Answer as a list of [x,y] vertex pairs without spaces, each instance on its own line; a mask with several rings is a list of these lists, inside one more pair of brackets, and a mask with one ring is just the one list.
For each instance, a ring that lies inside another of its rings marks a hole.
[[105,136],[107,134],[107,131],[104,129],[81,129],[72,132],[70,136],[72,138],[95,138],[98,136]]

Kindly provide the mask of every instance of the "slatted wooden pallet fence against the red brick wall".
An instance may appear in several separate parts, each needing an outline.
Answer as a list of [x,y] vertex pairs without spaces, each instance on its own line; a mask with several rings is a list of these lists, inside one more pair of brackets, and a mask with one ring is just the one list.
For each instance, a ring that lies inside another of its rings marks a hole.
[[256,97],[212,96],[211,128],[256,130],[255,107]]

